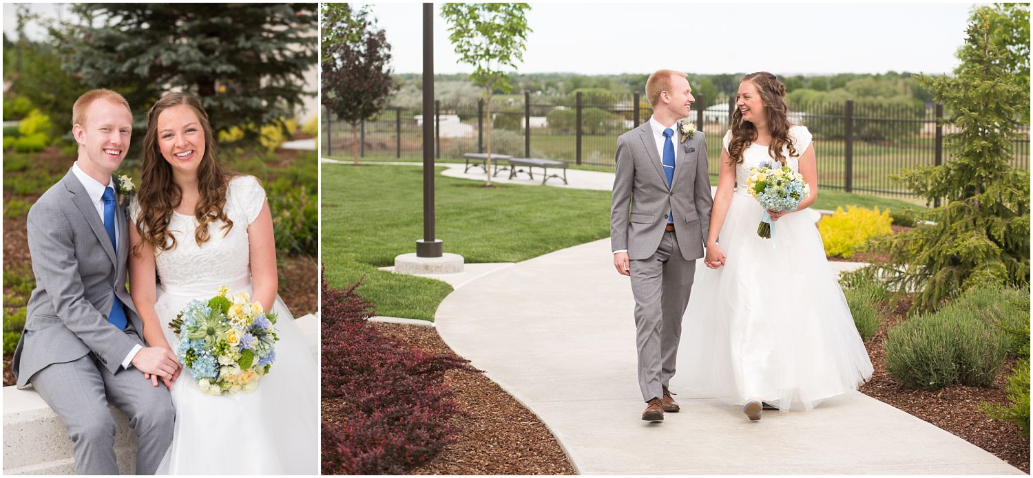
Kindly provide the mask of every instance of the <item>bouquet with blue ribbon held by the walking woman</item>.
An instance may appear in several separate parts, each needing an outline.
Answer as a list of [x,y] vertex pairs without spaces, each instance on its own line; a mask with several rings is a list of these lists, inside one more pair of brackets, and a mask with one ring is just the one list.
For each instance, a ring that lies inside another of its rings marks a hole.
[[792,211],[811,193],[811,187],[799,172],[789,166],[778,166],[778,161],[763,161],[750,169],[746,190],[760,202],[763,215],[757,226],[757,235],[771,238],[774,232],[772,218],[768,210]]

